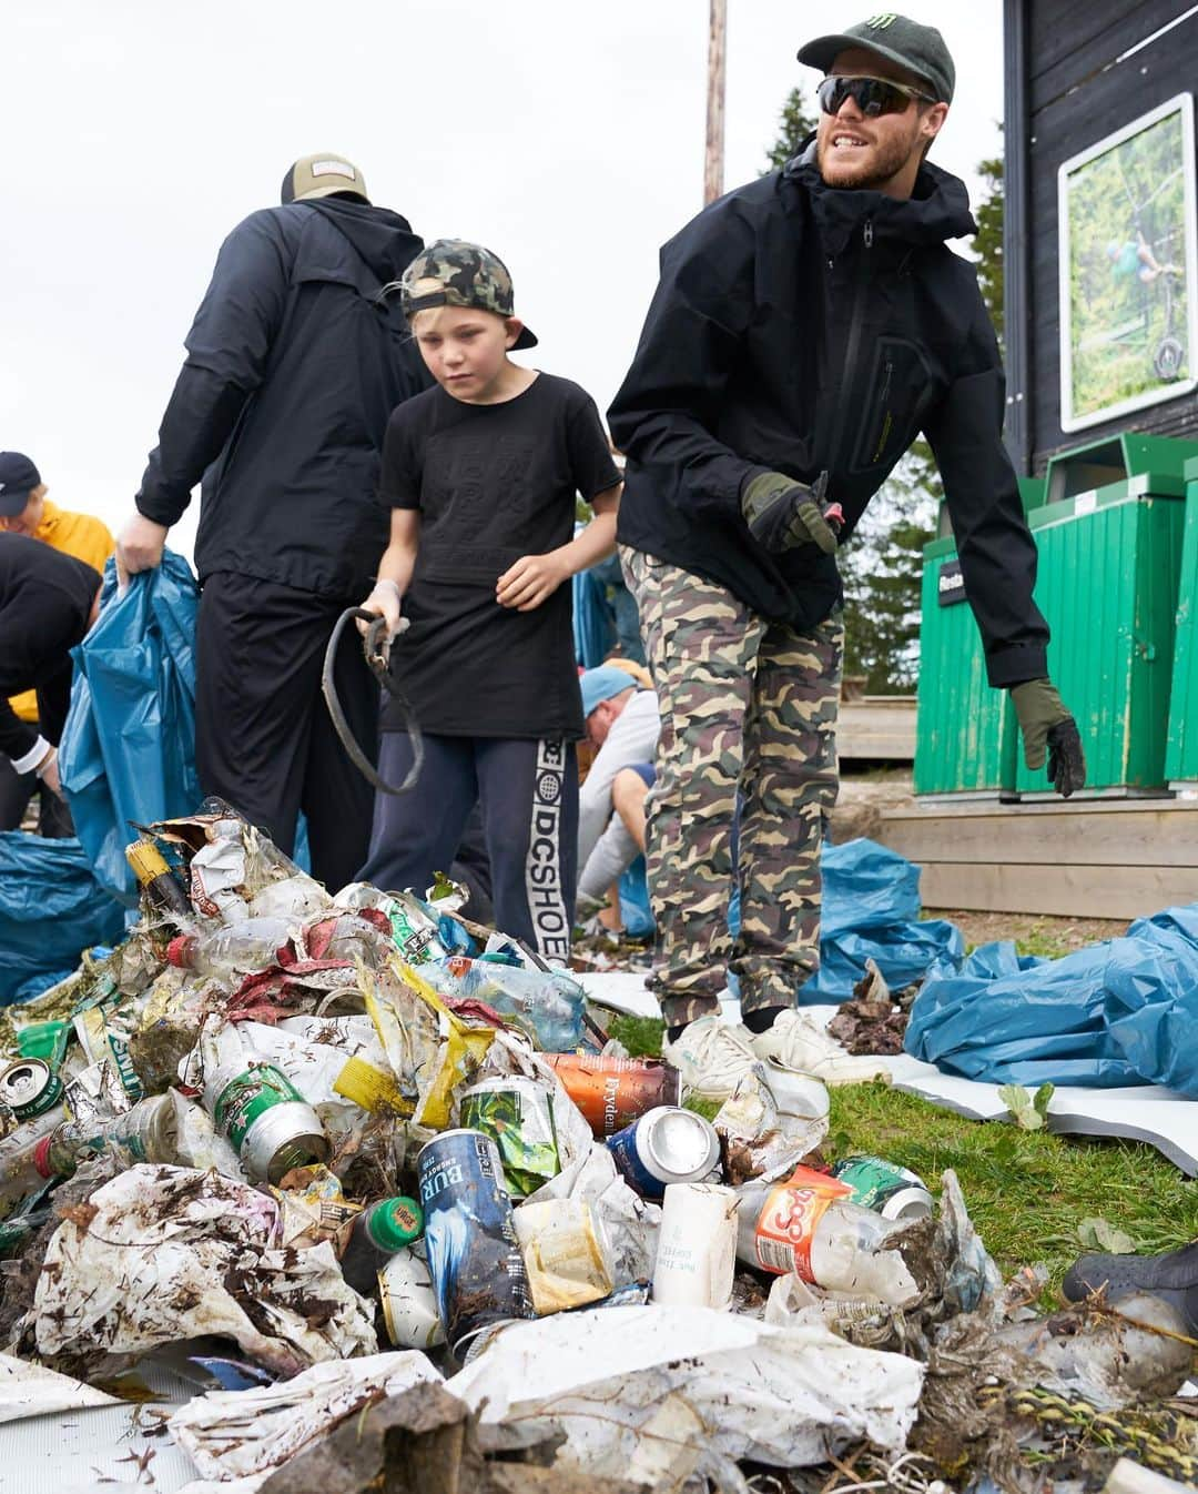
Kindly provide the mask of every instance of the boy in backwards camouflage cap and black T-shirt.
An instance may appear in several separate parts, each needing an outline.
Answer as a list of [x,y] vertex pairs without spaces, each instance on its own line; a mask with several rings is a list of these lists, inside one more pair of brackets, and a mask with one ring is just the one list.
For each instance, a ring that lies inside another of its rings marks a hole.
[[[565,961],[584,728],[563,583],[611,554],[620,474],[592,399],[508,357],[536,338],[494,254],[441,239],[399,288],[436,387],[387,426],[391,541],[363,605],[394,635],[403,604],[391,671],[424,734],[424,768],[415,792],[378,796],[361,877],[423,890],[481,799],[497,928]],[[595,518],[572,539],[577,493]],[[411,763],[384,707],[379,769],[399,783]]]

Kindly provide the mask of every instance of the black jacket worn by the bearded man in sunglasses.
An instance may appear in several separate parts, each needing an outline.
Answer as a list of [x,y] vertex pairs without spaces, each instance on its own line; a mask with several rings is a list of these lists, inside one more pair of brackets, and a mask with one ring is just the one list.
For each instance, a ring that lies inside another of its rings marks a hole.
[[829,472],[845,538],[920,430],[944,480],[993,686],[1047,674],[1035,545],[1002,445],[1004,379],[971,264],[965,187],[926,166],[907,202],[825,185],[814,148],[707,208],[662,249],[609,411],[627,454],[621,544],[811,627],[834,557],[771,554],[741,517],[757,472]]

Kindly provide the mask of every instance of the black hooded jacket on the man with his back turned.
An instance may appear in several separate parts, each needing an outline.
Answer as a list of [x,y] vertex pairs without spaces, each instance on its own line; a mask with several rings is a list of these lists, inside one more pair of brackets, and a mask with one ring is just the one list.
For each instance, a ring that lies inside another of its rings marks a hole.
[[173,524],[203,478],[200,580],[369,590],[387,418],[430,382],[379,291],[421,247],[399,214],[330,197],[254,212],[221,245],[137,493]]

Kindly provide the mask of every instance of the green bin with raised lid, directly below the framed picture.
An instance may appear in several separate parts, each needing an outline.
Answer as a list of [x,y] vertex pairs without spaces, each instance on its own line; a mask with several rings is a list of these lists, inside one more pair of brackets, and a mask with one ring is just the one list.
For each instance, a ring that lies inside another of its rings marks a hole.
[[[1128,460],[1143,462],[1159,456],[1165,438],[1117,441]],[[1077,454],[1080,471],[1098,466],[1095,450]],[[1073,457],[1049,463],[1049,502],[1028,515],[1040,550],[1035,599],[1052,629],[1049,675],[1081,734],[1083,792],[1161,793],[1185,518],[1180,463],[1077,492]],[[1029,771],[1022,754],[1016,789],[1020,798],[1052,795],[1044,771]]]

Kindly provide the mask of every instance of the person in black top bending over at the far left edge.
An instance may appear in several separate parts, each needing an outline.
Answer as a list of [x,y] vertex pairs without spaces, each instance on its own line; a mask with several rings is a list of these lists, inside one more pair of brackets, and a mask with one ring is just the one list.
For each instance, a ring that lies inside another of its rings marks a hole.
[[[28,535],[0,533],[0,753],[60,798],[58,738],[70,705],[70,650],[100,611],[100,572]],[[10,695],[37,692],[37,723]],[[54,834],[70,835],[64,814]]]

